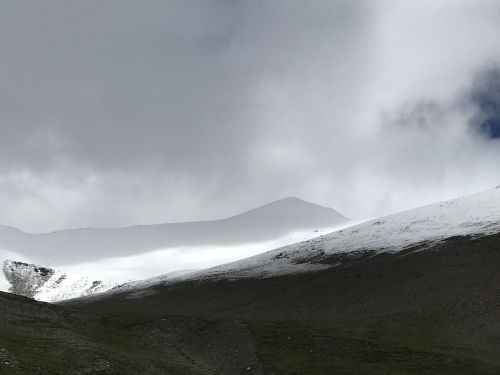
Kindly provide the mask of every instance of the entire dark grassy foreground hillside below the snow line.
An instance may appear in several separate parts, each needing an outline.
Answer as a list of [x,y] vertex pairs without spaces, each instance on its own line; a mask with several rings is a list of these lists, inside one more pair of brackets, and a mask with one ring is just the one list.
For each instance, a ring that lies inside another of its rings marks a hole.
[[141,298],[1,295],[0,373],[499,374],[499,269],[496,235]]

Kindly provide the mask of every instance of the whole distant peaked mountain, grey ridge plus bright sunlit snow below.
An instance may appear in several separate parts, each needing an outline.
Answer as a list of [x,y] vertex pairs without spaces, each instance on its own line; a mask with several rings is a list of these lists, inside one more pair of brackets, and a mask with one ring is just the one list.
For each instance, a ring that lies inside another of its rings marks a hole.
[[[349,223],[331,208],[285,198],[215,221],[45,234],[0,226],[0,262],[14,259],[60,270],[84,291],[87,283],[81,280],[104,277],[123,283],[182,269],[202,269],[316,237]],[[9,286],[0,274],[0,290]],[[75,289],[67,283],[65,286]]]

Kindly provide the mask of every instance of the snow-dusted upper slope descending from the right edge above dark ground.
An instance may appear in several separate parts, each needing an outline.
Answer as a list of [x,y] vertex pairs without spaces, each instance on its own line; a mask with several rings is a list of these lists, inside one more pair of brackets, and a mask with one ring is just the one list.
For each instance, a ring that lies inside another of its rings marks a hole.
[[[190,273],[168,282],[189,279],[269,277],[331,267],[307,260],[317,256],[374,250],[397,252],[419,243],[436,243],[453,236],[500,232],[500,187],[370,220],[305,242],[281,247],[247,259]],[[165,282],[161,278],[133,282],[116,292],[140,290]]]

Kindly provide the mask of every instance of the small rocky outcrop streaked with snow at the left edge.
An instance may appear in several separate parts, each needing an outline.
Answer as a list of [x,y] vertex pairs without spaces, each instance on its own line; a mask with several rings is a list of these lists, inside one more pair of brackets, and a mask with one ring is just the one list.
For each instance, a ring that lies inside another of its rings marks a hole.
[[116,286],[113,282],[75,278],[51,268],[6,260],[2,271],[10,283],[9,292],[53,302],[100,293]]

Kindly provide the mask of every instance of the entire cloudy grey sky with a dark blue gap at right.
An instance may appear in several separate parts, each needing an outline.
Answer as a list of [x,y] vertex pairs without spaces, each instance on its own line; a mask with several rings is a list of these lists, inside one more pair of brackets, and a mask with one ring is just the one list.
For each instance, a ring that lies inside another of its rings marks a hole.
[[0,2],[0,224],[374,217],[500,185],[498,1]]

